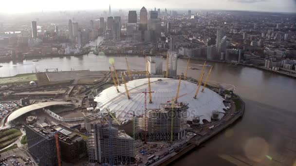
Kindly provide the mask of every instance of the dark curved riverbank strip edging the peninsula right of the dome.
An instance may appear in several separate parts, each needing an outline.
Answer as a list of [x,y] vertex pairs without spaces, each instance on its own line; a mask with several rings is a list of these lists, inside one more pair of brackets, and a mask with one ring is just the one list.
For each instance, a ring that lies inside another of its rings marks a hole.
[[[179,149],[177,153],[174,155],[171,155],[170,157],[166,158],[165,160],[162,160],[161,163],[158,163],[160,166],[168,166],[187,154],[188,152],[192,151],[193,149],[202,147],[203,143],[210,140],[212,137],[217,135],[218,133],[221,133],[223,130],[228,128],[229,126],[233,125],[237,120],[239,120],[245,111],[245,102],[238,96],[235,95],[236,98],[232,100],[232,110],[230,110],[226,116],[224,116],[222,119],[217,121],[215,125],[211,124],[212,129],[208,129],[206,133],[198,133],[196,136],[191,138],[187,145],[185,145],[182,149]],[[240,108],[233,107],[235,104],[234,100],[240,101]],[[228,116],[228,117],[227,117]],[[229,117],[230,116],[230,117]]]

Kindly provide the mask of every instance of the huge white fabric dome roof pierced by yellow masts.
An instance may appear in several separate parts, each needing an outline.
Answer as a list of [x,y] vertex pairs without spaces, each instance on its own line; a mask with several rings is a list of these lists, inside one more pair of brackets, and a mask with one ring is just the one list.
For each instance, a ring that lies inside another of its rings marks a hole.
[[[97,109],[100,113],[106,112],[105,108],[109,108],[111,112],[116,114],[118,120],[131,119],[134,112],[135,116],[143,116],[145,112],[145,90],[148,92],[148,79],[139,79],[129,81],[127,88],[129,89],[128,99],[125,86],[122,83],[118,86],[119,93],[115,86],[111,86],[98,94],[94,101],[97,102]],[[176,97],[179,80],[167,78],[150,78],[152,103],[149,103],[149,94],[147,94],[147,109],[158,109],[160,104],[168,103],[172,98]],[[202,89],[202,87],[201,87]],[[197,99],[194,99],[197,90],[196,83],[181,81],[178,102],[188,103],[187,120],[192,121],[196,116],[200,117],[201,124],[203,119],[211,121],[214,111],[224,113],[223,98],[214,91],[205,88],[203,92],[199,92]],[[220,118],[223,114],[219,115]]]

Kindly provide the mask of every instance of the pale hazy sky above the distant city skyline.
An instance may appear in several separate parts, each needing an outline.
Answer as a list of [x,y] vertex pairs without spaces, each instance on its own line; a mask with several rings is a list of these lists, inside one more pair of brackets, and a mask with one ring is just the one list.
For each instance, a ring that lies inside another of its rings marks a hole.
[[0,12],[154,8],[296,12],[296,0],[0,0]]

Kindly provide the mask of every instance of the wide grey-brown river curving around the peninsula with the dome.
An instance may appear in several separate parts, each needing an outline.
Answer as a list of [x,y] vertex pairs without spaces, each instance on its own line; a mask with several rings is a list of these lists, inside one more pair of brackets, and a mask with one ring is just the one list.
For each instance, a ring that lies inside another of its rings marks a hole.
[[[95,45],[101,40],[94,41]],[[0,77],[19,73],[58,70],[109,70],[110,59],[117,69],[126,69],[125,55],[96,56],[92,53],[79,57],[43,58],[39,62],[0,63]],[[128,56],[130,69],[145,69],[143,56]],[[186,60],[178,60],[178,74],[185,71]],[[201,68],[202,61],[190,61],[190,66]],[[296,162],[296,79],[255,68],[231,67],[222,63],[213,66],[209,80],[235,86],[246,103],[243,118],[226,131],[215,136],[174,165],[263,165],[293,166]],[[166,62],[164,59],[164,70]],[[209,70],[208,68],[206,69]],[[197,78],[200,70],[188,70]]]

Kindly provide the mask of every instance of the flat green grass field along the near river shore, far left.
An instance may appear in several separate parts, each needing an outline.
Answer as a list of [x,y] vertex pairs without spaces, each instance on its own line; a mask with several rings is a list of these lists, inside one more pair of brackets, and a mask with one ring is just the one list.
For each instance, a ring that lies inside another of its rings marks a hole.
[[30,81],[37,81],[36,74],[18,74],[13,77],[2,77],[0,78],[0,84],[7,83],[26,83]]

